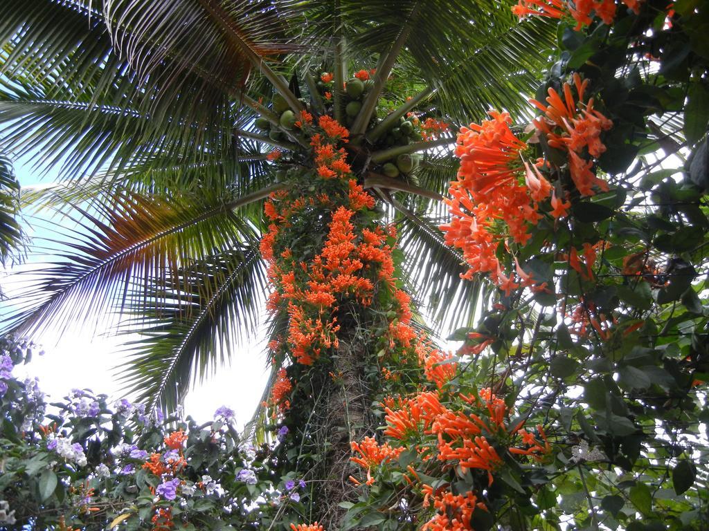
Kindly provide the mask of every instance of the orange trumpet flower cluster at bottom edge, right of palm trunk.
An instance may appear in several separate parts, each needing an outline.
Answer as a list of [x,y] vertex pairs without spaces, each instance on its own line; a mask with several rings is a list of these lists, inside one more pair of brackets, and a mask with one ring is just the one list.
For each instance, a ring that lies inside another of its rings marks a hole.
[[487,510],[482,502],[478,502],[477,496],[472,492],[454,495],[444,489],[437,489],[435,492],[432,486],[424,485],[424,506],[428,507],[433,501],[433,506],[438,513],[421,527],[423,531],[474,531],[470,520],[476,508]]

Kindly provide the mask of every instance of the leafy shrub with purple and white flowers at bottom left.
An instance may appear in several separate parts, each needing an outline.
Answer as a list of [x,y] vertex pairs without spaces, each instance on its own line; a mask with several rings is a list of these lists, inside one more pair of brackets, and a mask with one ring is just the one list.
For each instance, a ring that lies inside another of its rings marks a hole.
[[277,489],[267,454],[240,441],[225,406],[202,426],[87,389],[49,406],[36,380],[11,374],[33,346],[0,348],[4,529],[256,529],[281,500],[307,495],[303,481]]

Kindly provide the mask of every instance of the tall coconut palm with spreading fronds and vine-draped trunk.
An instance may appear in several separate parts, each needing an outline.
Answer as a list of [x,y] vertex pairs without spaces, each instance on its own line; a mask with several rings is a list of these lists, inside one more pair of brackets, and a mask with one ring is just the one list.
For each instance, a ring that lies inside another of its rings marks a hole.
[[[130,345],[128,389],[152,406],[177,404],[257,322],[268,291],[262,202],[289,186],[268,154],[275,147],[312,162],[307,139],[281,125],[269,102],[296,116],[324,113],[323,71],[334,74],[328,108],[350,128],[353,172],[399,228],[406,290],[436,326],[466,324],[480,287],[459,279],[461,257],[437,229],[456,169],[454,140],[387,147],[386,133],[412,110],[452,127],[490,107],[523,112],[547,62],[530,50],[548,50],[553,38],[552,25],[520,24],[506,2],[488,0],[6,1],[0,147],[57,172],[62,186],[29,199],[78,225],[46,277],[16,302],[6,329],[35,333],[119,314],[121,330],[141,334]],[[340,87],[364,68],[376,74],[361,107],[346,113],[352,98]],[[411,174],[381,171],[414,152],[423,158]],[[272,336],[288,322],[274,314]],[[348,361],[330,367],[345,379],[363,370],[345,355],[362,326],[346,325],[338,354]],[[272,383],[283,358],[274,360]],[[333,387],[318,403],[304,394],[311,401],[299,406],[323,418],[311,435],[340,431],[337,441],[313,442],[330,448],[313,474],[337,469],[323,508],[347,497],[337,484],[354,431],[337,420],[337,404],[359,404],[349,411],[359,433],[372,424],[367,397],[345,383],[348,390]],[[318,514],[339,518],[336,509]]]

